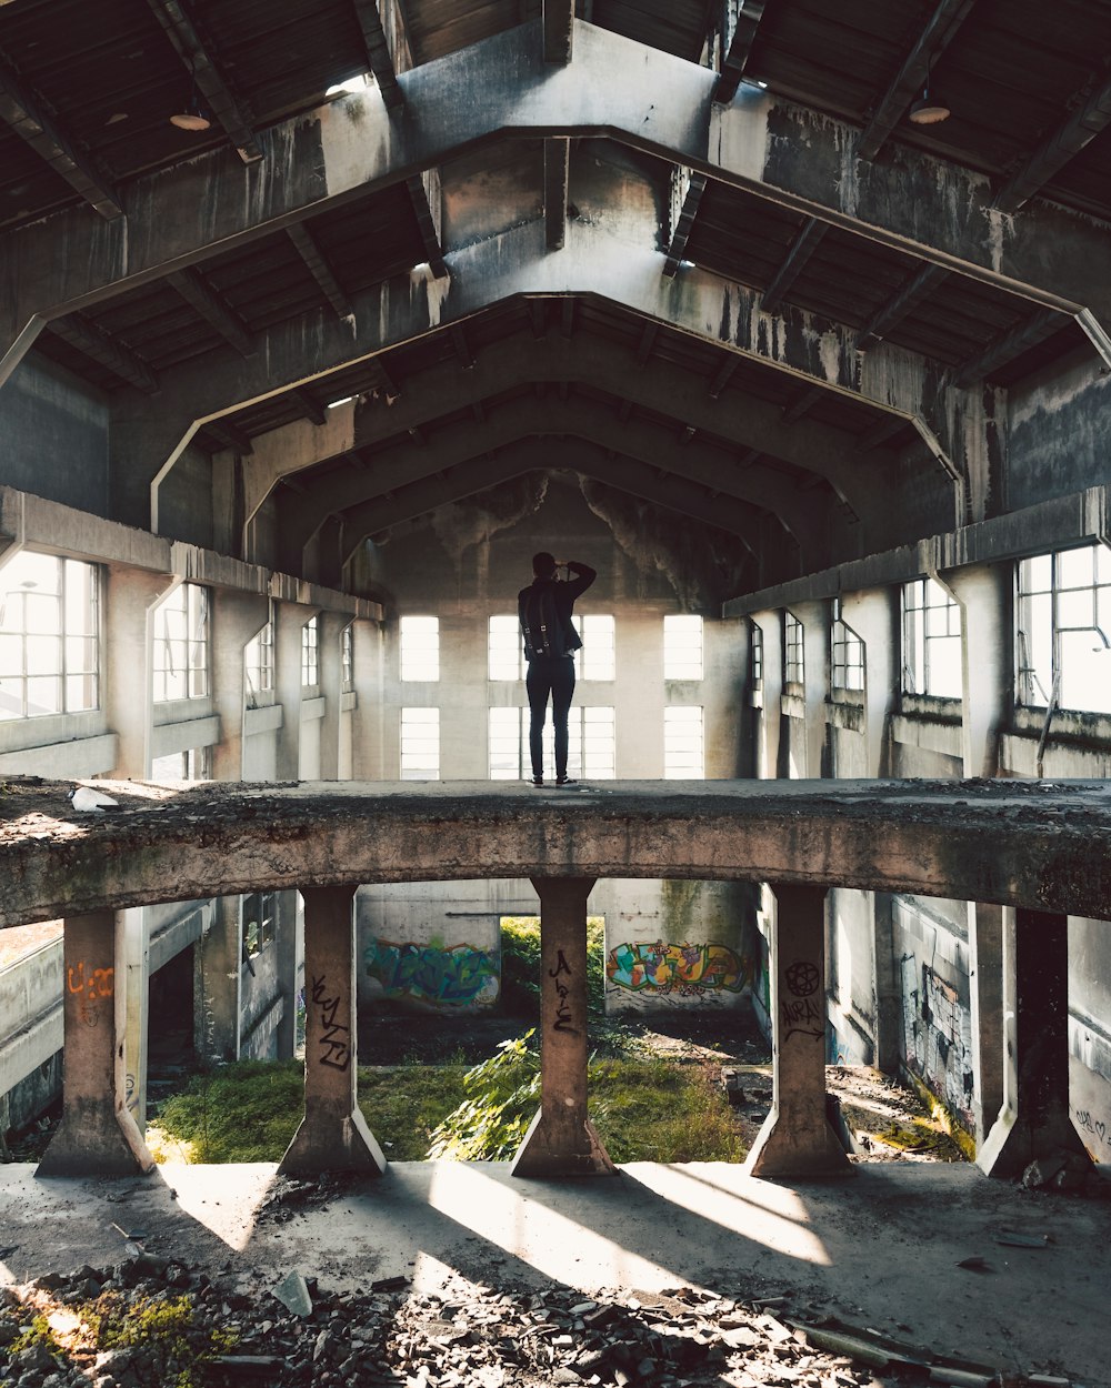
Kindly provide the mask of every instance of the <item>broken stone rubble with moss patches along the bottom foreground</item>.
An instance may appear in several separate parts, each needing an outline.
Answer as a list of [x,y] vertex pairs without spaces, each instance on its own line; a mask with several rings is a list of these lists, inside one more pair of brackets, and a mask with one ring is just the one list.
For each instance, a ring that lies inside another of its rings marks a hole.
[[[228,1269],[231,1264],[228,1264]],[[925,1363],[847,1335],[790,1298],[730,1299],[460,1288],[406,1278],[329,1292],[290,1273],[274,1292],[139,1252],[125,1263],[0,1291],[0,1388],[868,1388],[900,1381],[987,1388],[980,1366]],[[281,1299],[278,1295],[281,1294]],[[294,1309],[290,1309],[293,1306]],[[151,1310],[153,1309],[153,1310]],[[158,1310],[178,1317],[165,1330]],[[150,1323],[104,1348],[97,1316]],[[183,1317],[183,1319],[182,1319]],[[161,1326],[161,1330],[157,1328]],[[37,1327],[37,1330],[36,1330]],[[50,1327],[50,1334],[43,1334]],[[78,1328],[75,1328],[78,1327]],[[83,1330],[81,1328],[83,1327]],[[825,1346],[825,1348],[822,1348]],[[908,1346],[903,1346],[904,1349]],[[954,1367],[955,1366],[955,1367]],[[879,1377],[876,1377],[879,1376]],[[904,1377],[908,1376],[908,1377]],[[1026,1380],[1007,1380],[1007,1388]],[[1053,1388],[1068,1381],[1032,1378]]]

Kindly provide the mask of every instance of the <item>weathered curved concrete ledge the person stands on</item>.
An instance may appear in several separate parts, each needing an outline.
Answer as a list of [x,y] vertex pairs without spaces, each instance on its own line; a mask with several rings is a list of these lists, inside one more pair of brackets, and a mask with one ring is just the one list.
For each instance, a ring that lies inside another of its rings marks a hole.
[[385,881],[671,877],[858,887],[1111,917],[1105,781],[97,781],[0,797],[0,926]]

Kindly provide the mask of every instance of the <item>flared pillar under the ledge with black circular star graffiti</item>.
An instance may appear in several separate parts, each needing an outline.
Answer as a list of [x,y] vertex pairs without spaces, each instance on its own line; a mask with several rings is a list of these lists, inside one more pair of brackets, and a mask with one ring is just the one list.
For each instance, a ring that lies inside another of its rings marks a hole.
[[825,888],[772,884],[772,1110],[749,1152],[750,1176],[853,1170],[826,1119]]

